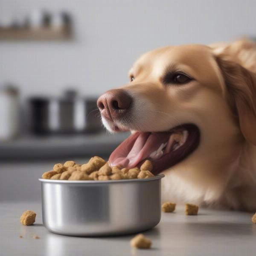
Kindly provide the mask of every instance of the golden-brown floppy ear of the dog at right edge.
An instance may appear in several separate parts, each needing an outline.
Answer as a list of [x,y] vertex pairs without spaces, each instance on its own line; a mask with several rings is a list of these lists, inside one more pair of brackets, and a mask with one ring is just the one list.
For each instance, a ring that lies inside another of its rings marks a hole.
[[256,145],[256,74],[223,52],[215,57],[224,78],[223,90],[239,119],[241,133]]

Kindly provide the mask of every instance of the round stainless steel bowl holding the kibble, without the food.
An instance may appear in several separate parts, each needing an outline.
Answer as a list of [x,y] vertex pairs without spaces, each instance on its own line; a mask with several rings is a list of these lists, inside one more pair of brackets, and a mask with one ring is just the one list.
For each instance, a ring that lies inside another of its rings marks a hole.
[[124,235],[161,218],[161,179],[41,181],[44,226],[70,236]]

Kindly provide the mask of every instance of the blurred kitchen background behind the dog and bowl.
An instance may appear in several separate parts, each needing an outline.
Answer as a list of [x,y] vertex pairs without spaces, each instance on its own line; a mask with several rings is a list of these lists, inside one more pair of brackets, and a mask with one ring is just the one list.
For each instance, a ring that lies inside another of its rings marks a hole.
[[[0,201],[38,200],[38,177],[109,154],[96,99],[171,44],[255,37],[254,0],[0,0]],[[6,182],[8,180],[8,182]],[[15,188],[15,189],[14,189]]]

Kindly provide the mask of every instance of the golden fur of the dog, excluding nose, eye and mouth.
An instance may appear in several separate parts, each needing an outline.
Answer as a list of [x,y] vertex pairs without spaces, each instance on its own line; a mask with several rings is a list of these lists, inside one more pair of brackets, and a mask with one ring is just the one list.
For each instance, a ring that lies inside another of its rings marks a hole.
[[[194,80],[163,85],[166,69]],[[194,123],[201,132],[198,148],[164,171],[163,200],[256,211],[256,45],[164,47],[141,56],[130,76],[121,88],[134,104],[116,120],[120,130]]]

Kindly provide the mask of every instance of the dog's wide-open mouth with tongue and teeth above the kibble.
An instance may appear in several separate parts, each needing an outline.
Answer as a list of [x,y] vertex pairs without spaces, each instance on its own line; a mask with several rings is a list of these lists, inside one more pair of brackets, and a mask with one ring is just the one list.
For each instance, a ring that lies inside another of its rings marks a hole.
[[124,140],[111,154],[111,166],[133,168],[145,159],[151,160],[154,174],[179,163],[199,144],[196,125],[184,124],[166,132],[136,132]]

